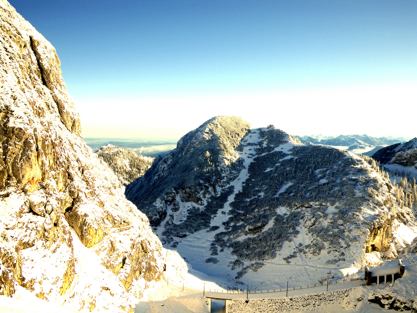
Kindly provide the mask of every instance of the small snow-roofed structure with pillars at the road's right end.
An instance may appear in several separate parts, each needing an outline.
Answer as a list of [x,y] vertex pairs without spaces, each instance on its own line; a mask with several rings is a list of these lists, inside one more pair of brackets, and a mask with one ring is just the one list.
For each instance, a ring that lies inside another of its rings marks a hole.
[[365,279],[367,280],[367,285],[376,283],[393,283],[396,279],[402,277],[404,274],[405,267],[402,265],[402,260],[398,260],[398,264],[393,261],[385,261],[384,265],[378,266],[376,268],[369,268],[368,265],[365,265]]

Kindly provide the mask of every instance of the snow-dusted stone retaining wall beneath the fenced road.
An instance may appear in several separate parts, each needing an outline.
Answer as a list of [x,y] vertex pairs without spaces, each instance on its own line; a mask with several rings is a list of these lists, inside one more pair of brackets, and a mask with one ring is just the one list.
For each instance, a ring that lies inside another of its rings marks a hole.
[[349,295],[350,290],[352,290],[352,288],[289,298],[228,300],[226,301],[226,312],[291,313],[307,309],[310,311],[319,310],[322,305],[342,303],[344,297]]

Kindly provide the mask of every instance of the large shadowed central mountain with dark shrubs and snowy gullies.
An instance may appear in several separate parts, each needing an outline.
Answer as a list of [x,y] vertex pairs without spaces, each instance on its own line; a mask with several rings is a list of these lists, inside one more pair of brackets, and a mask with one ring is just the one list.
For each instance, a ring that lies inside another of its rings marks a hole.
[[[237,157],[221,165],[234,169],[228,176],[222,173],[231,171],[220,165],[208,168],[205,151],[217,143],[203,129],[154,162],[127,187],[127,196],[152,199],[136,205],[148,214],[151,206],[163,213],[154,228],[163,244],[219,282],[279,285],[314,281],[328,271],[343,276],[395,257],[417,235],[412,210],[393,200],[395,189],[372,159],[304,145],[270,125],[240,137]],[[200,163],[181,167],[193,137],[202,140],[188,159]],[[171,180],[177,173],[188,179]],[[220,174],[224,179],[215,176]]]

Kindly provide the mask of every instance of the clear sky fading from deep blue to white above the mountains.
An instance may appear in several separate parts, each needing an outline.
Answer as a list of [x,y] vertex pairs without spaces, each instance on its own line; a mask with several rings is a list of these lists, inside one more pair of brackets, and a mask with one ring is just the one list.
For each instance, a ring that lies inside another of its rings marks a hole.
[[179,138],[213,116],[417,136],[417,1],[10,3],[56,48],[83,136]]

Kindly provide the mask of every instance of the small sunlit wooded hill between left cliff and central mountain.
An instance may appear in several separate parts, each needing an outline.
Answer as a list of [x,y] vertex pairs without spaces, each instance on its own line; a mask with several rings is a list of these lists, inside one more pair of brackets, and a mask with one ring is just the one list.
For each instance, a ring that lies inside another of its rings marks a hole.
[[143,176],[155,159],[153,156],[143,156],[111,144],[102,146],[95,153],[107,163],[123,185]]

